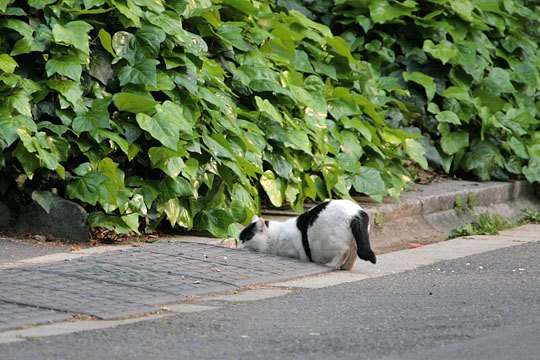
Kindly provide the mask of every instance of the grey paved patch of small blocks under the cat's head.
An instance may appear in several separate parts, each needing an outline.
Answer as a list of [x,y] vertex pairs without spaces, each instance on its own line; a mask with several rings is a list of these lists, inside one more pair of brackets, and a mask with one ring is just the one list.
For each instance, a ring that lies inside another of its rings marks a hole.
[[0,330],[150,313],[186,296],[314,275],[331,268],[193,242],[164,242],[0,270]]

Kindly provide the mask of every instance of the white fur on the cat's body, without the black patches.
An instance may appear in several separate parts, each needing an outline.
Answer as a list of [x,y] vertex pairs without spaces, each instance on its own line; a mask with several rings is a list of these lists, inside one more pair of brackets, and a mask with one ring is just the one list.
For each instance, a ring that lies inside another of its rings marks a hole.
[[[349,200],[332,200],[319,213],[308,228],[308,239],[313,262],[326,264],[336,269],[349,270],[357,259],[357,245],[351,232],[350,223],[362,208]],[[309,261],[302,246],[302,234],[296,226],[297,218],[284,222],[264,220],[254,217],[257,232],[239,249],[249,249],[278,256]]]

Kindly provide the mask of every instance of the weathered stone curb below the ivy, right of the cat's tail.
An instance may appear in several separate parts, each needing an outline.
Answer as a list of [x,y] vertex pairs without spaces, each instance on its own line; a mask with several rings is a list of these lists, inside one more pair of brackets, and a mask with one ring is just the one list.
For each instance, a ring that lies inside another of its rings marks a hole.
[[[457,206],[456,199],[466,207]],[[538,189],[526,181],[446,180],[414,185],[399,201],[361,205],[370,214],[372,246],[388,252],[410,243],[446,240],[453,229],[471,222],[475,214],[491,212],[516,219],[524,208],[540,209],[540,197]]]

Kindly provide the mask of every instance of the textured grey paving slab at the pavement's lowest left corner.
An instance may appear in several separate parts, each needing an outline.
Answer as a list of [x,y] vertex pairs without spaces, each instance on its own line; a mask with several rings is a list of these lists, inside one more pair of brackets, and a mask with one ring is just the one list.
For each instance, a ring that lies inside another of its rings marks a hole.
[[0,301],[0,330],[14,329],[22,325],[37,325],[50,321],[67,320],[69,318],[71,318],[71,315],[63,312]]

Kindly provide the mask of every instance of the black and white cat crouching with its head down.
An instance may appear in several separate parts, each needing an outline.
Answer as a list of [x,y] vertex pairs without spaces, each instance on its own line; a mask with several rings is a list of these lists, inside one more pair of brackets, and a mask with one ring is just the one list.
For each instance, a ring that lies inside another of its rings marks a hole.
[[239,249],[326,264],[350,270],[357,255],[377,261],[369,245],[369,217],[349,200],[331,200],[284,222],[257,216],[240,233]]

